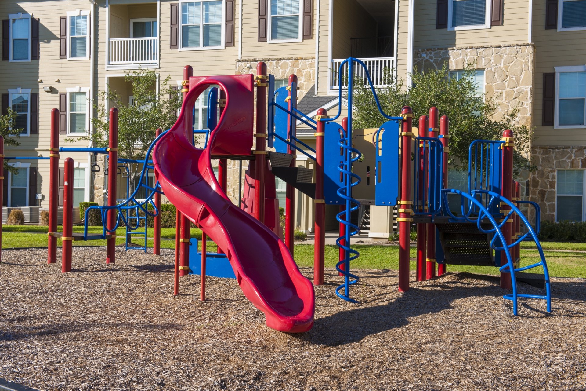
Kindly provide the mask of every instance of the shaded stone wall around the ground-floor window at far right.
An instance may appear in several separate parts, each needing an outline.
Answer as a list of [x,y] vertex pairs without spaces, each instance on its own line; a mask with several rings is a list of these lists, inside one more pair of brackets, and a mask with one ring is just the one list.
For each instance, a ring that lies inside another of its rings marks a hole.
[[557,169],[586,168],[586,147],[533,147],[530,200],[539,203],[541,220],[556,219]]

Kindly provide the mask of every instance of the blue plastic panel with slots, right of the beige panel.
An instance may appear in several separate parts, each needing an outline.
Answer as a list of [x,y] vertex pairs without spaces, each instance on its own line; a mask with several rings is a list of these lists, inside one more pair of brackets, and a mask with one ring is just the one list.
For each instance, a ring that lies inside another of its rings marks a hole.
[[399,121],[387,121],[379,128],[379,132],[380,151],[377,151],[374,166],[374,204],[394,206],[397,204],[399,189]]

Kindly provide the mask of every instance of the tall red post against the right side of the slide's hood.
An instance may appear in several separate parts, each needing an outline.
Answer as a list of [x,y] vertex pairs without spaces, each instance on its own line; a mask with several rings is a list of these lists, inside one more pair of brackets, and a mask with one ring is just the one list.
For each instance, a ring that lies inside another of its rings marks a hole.
[[267,64],[257,64],[256,133],[254,134],[254,217],[264,224],[264,171],[267,142]]

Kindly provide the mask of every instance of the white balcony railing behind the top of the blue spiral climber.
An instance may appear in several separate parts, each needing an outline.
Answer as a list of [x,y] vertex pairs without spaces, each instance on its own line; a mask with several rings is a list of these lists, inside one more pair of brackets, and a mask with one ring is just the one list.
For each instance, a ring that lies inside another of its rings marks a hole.
[[[342,67],[342,77],[338,74],[340,64],[346,59],[332,60],[330,70],[330,89],[338,89],[340,83],[342,88],[348,86],[348,63]],[[366,65],[366,69],[370,74],[370,80],[374,84],[374,87],[384,87],[391,84],[393,73],[392,69],[395,67],[395,57],[374,57],[369,59],[359,59]],[[355,79],[363,80],[364,86],[368,85],[368,79],[366,78],[366,72],[364,68],[357,62],[353,64],[354,77]]]

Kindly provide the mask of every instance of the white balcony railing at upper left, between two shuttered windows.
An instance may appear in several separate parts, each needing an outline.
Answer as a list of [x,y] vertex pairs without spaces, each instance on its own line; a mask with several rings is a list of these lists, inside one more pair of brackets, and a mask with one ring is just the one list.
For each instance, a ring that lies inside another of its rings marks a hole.
[[110,39],[110,64],[156,64],[158,61],[157,37]]

